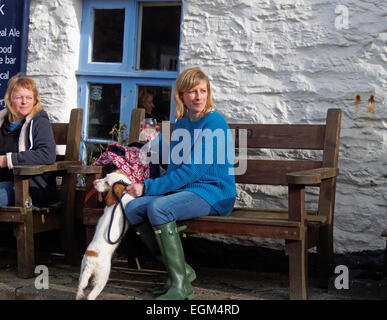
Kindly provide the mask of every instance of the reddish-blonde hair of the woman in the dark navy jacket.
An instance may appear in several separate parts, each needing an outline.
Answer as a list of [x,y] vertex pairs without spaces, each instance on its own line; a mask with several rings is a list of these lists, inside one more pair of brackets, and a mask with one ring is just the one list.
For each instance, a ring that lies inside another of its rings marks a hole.
[[34,94],[34,106],[29,116],[33,117],[39,111],[43,110],[43,107],[40,104],[40,97],[39,97],[39,93],[38,93],[38,89],[36,87],[35,81],[30,77],[27,77],[21,73],[18,73],[9,80],[8,88],[4,96],[5,105],[7,106],[7,109],[9,111],[8,117],[11,121],[12,121],[12,118],[16,117],[16,111],[12,107],[11,97],[13,92],[18,88],[31,90],[32,93]]

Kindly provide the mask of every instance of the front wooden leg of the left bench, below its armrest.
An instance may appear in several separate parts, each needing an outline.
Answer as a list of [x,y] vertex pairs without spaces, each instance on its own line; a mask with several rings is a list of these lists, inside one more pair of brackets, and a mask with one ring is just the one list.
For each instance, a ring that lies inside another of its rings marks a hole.
[[34,233],[32,229],[32,213],[27,213],[24,223],[14,225],[17,245],[17,276],[32,278],[35,271]]

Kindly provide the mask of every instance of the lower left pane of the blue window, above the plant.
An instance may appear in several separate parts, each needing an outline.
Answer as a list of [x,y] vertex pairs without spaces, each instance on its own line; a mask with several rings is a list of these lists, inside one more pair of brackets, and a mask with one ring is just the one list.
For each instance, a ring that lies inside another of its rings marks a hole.
[[109,132],[120,121],[121,84],[90,83],[87,135],[112,140]]

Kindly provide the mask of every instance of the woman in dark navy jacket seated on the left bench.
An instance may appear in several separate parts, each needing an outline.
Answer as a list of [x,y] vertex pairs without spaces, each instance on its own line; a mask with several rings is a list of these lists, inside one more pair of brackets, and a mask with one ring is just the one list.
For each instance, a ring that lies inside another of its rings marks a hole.
[[[52,164],[56,160],[51,124],[34,80],[15,75],[4,100],[6,108],[0,111],[0,206],[14,202],[13,166]],[[29,180],[29,188],[34,204],[57,200],[55,177],[35,176]]]

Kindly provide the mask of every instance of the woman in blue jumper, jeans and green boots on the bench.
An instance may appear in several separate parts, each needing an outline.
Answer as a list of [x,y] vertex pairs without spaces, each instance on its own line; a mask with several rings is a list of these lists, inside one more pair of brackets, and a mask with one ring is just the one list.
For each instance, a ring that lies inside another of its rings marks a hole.
[[[222,158],[222,154],[230,154],[232,138],[226,120],[214,110],[208,76],[199,68],[183,71],[176,79],[174,99],[177,121],[172,132],[168,170],[159,178],[128,186],[128,193],[138,198],[125,209],[136,233],[168,270],[168,282],[155,290],[161,294],[158,299],[165,300],[194,296],[190,282],[196,275],[185,263],[176,221],[229,215],[236,198],[233,157],[226,161]],[[174,139],[174,133],[179,136],[179,132],[188,137],[183,149],[189,152],[183,155],[184,161],[174,152],[183,143]],[[204,133],[211,141],[204,140]],[[216,138],[219,134],[223,134],[223,142]],[[147,222],[153,227],[159,247]]]

